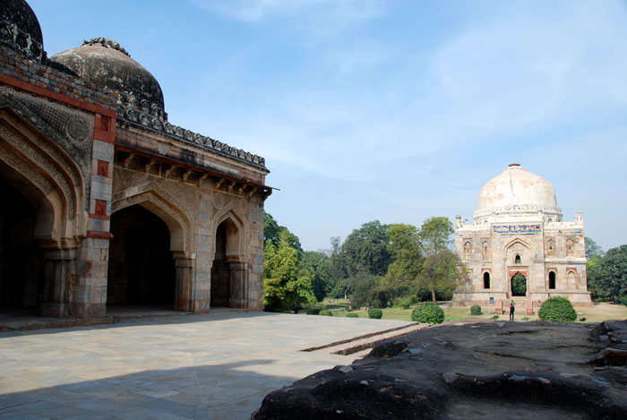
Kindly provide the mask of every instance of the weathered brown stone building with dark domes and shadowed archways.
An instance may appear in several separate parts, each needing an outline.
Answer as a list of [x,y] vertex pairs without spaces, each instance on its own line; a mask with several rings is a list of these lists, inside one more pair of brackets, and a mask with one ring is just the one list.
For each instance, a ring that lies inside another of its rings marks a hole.
[[47,58],[0,3],[0,311],[262,309],[264,159],[170,124],[116,42]]

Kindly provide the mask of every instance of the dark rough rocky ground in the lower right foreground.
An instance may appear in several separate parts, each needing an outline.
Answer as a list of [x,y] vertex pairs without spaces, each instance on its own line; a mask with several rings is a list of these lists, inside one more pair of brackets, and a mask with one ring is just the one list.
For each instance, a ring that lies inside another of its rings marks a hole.
[[253,419],[627,418],[627,321],[484,322],[383,341]]

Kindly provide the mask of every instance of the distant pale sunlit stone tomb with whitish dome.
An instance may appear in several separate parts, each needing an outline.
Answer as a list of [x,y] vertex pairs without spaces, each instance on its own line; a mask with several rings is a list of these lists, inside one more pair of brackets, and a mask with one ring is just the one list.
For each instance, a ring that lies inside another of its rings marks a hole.
[[455,244],[468,275],[453,304],[507,307],[551,296],[592,304],[582,214],[563,221],[548,181],[511,164],[481,189],[474,222],[456,219]]

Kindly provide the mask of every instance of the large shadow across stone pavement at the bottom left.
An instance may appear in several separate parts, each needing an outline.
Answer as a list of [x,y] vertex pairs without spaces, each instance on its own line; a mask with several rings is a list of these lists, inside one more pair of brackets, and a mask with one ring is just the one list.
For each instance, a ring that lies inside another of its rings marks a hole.
[[271,360],[144,371],[0,395],[0,418],[245,418],[297,378],[255,373]]

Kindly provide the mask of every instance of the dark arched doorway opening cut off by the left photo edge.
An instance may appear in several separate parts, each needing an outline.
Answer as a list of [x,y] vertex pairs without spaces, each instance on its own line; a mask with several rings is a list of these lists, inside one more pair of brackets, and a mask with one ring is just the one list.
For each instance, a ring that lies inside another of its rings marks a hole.
[[0,177],[0,311],[39,314],[44,296],[44,254],[35,241],[36,210]]

